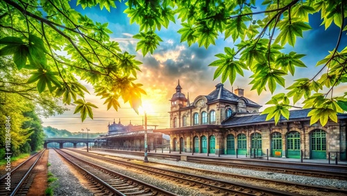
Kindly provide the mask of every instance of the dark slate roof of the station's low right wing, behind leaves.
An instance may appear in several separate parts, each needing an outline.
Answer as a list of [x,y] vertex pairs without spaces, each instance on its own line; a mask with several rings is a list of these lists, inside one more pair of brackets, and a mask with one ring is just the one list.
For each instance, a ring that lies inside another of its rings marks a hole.
[[[302,109],[289,111],[289,120],[285,117],[280,117],[280,122],[288,122],[295,120],[310,120],[310,117],[307,117],[307,114],[311,111],[311,109]],[[347,114],[338,114],[337,117],[339,119],[347,119]],[[228,120],[222,123],[222,126],[243,126],[248,124],[262,124],[262,123],[273,123],[274,120],[266,121],[266,115],[257,114],[246,114],[246,115],[235,115],[234,117],[230,117]]]

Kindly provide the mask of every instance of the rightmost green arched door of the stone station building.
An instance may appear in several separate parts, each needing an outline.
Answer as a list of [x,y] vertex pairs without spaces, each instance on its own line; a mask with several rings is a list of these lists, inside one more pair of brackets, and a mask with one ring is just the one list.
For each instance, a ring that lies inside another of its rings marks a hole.
[[311,133],[311,158],[326,159],[326,133],[321,129]]

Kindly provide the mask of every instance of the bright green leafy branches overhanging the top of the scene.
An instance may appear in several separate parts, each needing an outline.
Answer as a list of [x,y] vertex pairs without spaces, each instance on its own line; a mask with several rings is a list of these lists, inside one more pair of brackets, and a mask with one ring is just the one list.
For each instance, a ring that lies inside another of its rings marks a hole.
[[[97,6],[110,10],[115,1],[78,0],[85,8]],[[289,118],[289,108],[304,98],[303,108],[312,108],[311,123],[328,119],[337,121],[337,113],[347,111],[346,95],[334,95],[333,89],[347,81],[347,47],[340,44],[347,30],[347,1],[341,0],[264,0],[260,12],[254,12],[255,0],[129,0],[124,13],[130,23],[139,25],[137,50],[142,54],[153,51],[162,39],[156,33],[170,22],[181,22],[178,33],[181,42],[190,46],[208,48],[215,44],[219,35],[237,42],[226,47],[225,54],[210,64],[217,67],[214,79],[221,76],[222,82],[235,81],[244,70],[253,72],[252,90],[273,93],[277,85],[286,87],[285,76],[294,75],[296,67],[306,67],[301,61],[305,54],[294,49],[283,52],[284,46],[294,47],[296,39],[310,31],[308,15],[320,13],[322,25],[339,27],[335,48],[323,59],[317,59],[321,70],[312,78],[298,79],[287,87],[289,92],[274,95],[267,104],[273,104],[263,112],[267,119],[280,115]],[[261,16],[262,19],[258,16]],[[66,104],[72,99],[78,105],[84,120],[92,117],[92,103],[83,99],[87,89],[78,77],[91,83],[98,96],[105,99],[108,108],[119,108],[119,98],[128,101],[137,110],[144,94],[141,84],[134,83],[139,61],[135,56],[122,52],[119,44],[110,41],[108,24],[93,22],[90,18],[71,9],[69,3],[59,0],[1,2],[0,55],[12,55],[19,70],[32,70],[28,83],[35,83],[37,90],[48,88]],[[59,55],[65,51],[67,56]],[[96,106],[95,106],[96,107]]]

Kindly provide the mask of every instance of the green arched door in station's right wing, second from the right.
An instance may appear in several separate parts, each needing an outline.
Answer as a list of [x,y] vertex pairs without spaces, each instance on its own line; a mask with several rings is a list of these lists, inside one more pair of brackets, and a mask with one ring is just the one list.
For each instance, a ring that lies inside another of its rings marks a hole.
[[300,158],[300,133],[291,131],[287,135],[287,158]]

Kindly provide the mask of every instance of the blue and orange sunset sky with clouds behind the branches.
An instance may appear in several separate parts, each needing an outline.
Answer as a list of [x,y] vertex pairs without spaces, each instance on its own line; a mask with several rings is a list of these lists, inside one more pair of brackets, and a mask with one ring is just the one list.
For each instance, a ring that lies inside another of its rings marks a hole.
[[[219,35],[215,45],[210,45],[208,49],[205,47],[198,47],[198,44],[192,44],[188,47],[187,42],[180,42],[180,34],[177,31],[180,29],[180,21],[176,20],[176,24],[171,22],[169,28],[162,27],[161,31],[157,31],[163,42],[154,51],[153,54],[146,54],[142,56],[141,51],[135,51],[137,40],[133,39],[133,35],[139,32],[137,24],[130,24],[130,19],[123,13],[126,6],[117,1],[117,9],[111,8],[110,13],[108,10],[100,10],[99,6],[95,8],[81,8],[76,6],[76,1],[71,1],[71,7],[75,8],[83,15],[87,15],[97,22],[108,22],[108,28],[113,32],[110,37],[120,43],[121,49],[128,51],[130,54],[135,54],[137,60],[142,61],[140,65],[142,72],[137,73],[137,83],[142,83],[147,95],[142,97],[142,103],[146,110],[149,125],[158,125],[157,129],[164,129],[169,127],[169,110],[172,95],[176,92],[175,88],[180,81],[180,86],[183,88],[182,92],[186,95],[189,93],[189,100],[192,102],[198,95],[208,95],[215,89],[221,79],[220,77],[213,80],[213,75],[216,67],[208,67],[210,63],[217,60],[215,54],[223,53],[224,47],[233,47],[234,42],[231,38],[224,40],[223,35]],[[258,11],[260,8],[257,8]],[[310,15],[311,31],[305,31],[303,38],[297,38],[294,46],[298,54],[307,54],[301,60],[309,67],[309,69],[296,68],[294,76],[286,76],[286,87],[288,87],[295,79],[301,77],[310,78],[321,69],[315,67],[317,60],[320,60],[328,55],[328,51],[332,51],[337,42],[339,35],[339,28],[332,24],[330,28],[325,31],[324,26],[320,26],[321,16]],[[347,45],[346,33],[343,35],[340,44],[340,50]],[[288,49],[291,46],[286,45]],[[237,79],[233,85],[229,81],[224,83],[224,88],[232,90],[232,88],[243,88],[244,97],[255,101],[257,104],[263,106],[260,111],[263,111],[267,105],[265,103],[271,98],[271,92],[263,91],[261,95],[257,95],[256,90],[251,91],[250,71],[245,71],[245,76],[237,75]],[[84,83],[84,81],[81,81]],[[94,92],[90,85],[87,85],[90,92]],[[346,85],[340,86],[335,89],[335,93],[346,92]],[[277,86],[275,93],[287,92],[282,86]],[[140,110],[139,115],[130,108],[129,104],[122,104],[119,111],[111,108],[107,111],[104,100],[100,97],[86,95],[86,101],[99,106],[94,109],[94,120],[89,117],[84,122],[81,122],[80,114],[74,113],[74,106],[68,106],[70,111],[65,112],[63,115],[56,115],[49,118],[42,118],[43,126],[52,126],[57,129],[67,129],[71,132],[78,132],[81,129],[90,129],[91,132],[105,133],[108,130],[108,123],[121,121],[122,124],[143,124],[143,112]],[[301,100],[302,101],[302,100]],[[299,102],[301,102],[299,101]],[[122,102],[122,100],[120,101]],[[149,126],[149,129],[154,126]]]

